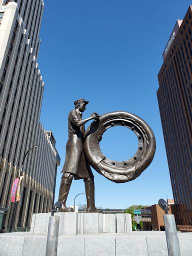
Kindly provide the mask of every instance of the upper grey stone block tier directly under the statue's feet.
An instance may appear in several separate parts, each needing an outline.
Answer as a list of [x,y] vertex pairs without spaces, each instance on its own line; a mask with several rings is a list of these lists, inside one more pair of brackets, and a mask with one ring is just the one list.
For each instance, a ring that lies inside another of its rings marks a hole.
[[[129,213],[58,212],[58,235],[131,233]],[[30,233],[47,234],[50,213],[32,215]]]

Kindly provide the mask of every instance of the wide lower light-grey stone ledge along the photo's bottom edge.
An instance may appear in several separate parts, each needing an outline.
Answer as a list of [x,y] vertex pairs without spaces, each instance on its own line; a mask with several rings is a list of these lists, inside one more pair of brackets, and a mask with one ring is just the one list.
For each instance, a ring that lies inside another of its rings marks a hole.
[[[177,233],[181,256],[191,256],[192,232]],[[0,256],[45,256],[46,235],[0,233]],[[57,256],[168,256],[164,231],[59,235]]]

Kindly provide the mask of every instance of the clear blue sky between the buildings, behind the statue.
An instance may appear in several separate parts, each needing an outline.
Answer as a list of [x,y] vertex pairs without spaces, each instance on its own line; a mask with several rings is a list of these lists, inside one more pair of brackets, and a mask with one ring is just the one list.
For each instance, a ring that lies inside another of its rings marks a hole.
[[[77,98],[89,103],[83,118],[115,110],[134,113],[152,128],[156,152],[149,167],[135,180],[116,184],[93,170],[95,204],[126,208],[172,198],[156,90],[162,52],[188,0],[44,0],[38,65],[44,80],[40,121],[51,130],[61,157],[55,200],[67,141],[67,116]],[[86,123],[85,127],[91,123]],[[136,151],[136,135],[125,127],[103,134],[101,151],[110,159],[126,160]],[[73,180],[67,206],[84,193],[83,180]],[[76,202],[86,203],[85,195]]]

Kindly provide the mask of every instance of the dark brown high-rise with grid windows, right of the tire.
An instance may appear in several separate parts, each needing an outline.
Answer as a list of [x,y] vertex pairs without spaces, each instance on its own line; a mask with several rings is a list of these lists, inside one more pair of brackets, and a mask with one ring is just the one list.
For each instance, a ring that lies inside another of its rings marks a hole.
[[192,6],[177,20],[162,54],[158,105],[181,230],[192,225]]

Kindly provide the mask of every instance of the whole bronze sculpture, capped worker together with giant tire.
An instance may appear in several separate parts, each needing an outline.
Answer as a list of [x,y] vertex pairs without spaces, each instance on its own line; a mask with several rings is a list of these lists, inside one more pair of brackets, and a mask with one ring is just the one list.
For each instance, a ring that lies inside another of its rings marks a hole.
[[[82,119],[82,112],[88,101],[83,98],[74,101],[75,109],[68,115],[68,141],[66,156],[58,200],[61,201],[60,211],[72,211],[65,206],[66,198],[72,179],[83,178],[87,200],[87,212],[102,212],[94,205],[94,176],[90,165],[101,175],[116,183],[127,182],[138,177],[151,163],[156,143],[155,137],[148,124],[139,116],[125,112],[114,111],[99,116],[92,113]],[[86,130],[84,124],[94,119]],[[135,154],[125,161],[113,161],[102,154],[99,146],[101,135],[110,127],[122,125],[131,129],[138,138],[138,149]],[[84,156],[85,155],[85,156]],[[89,165],[90,164],[90,165]]]

